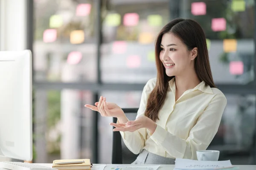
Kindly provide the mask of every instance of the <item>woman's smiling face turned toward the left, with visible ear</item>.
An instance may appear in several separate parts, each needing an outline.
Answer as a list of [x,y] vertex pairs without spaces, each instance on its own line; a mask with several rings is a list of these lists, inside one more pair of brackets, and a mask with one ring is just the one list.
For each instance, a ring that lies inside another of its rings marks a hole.
[[163,34],[160,47],[160,60],[166,68],[167,76],[180,76],[195,70],[196,47],[189,51],[186,45],[172,33]]

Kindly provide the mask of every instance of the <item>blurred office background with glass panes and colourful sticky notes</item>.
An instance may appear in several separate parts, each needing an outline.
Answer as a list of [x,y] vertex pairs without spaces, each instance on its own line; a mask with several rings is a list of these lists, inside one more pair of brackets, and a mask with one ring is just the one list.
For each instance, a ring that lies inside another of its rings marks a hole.
[[256,164],[255,0],[0,0],[0,50],[31,49],[34,162],[111,163],[112,118],[99,96],[138,108],[156,77],[154,39],[182,17],[203,27],[215,84],[227,97],[209,149]]

